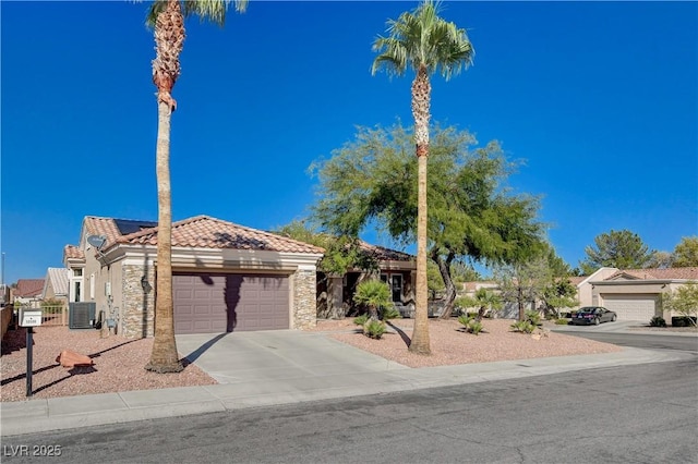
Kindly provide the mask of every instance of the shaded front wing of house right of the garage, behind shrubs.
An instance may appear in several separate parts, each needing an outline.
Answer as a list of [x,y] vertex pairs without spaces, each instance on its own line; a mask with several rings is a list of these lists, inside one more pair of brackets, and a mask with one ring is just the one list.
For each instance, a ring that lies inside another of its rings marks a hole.
[[393,303],[404,316],[414,312],[414,285],[417,261],[414,256],[361,241],[361,252],[378,264],[375,273],[349,269],[344,276],[317,274],[317,314],[323,318],[344,317],[352,314],[357,285],[371,276],[378,277],[390,286]]

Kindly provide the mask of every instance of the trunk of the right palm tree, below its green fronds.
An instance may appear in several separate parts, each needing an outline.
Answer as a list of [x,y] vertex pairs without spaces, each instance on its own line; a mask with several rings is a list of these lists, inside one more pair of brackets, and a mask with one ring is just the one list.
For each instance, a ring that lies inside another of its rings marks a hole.
[[414,330],[409,351],[431,354],[429,340],[429,289],[426,285],[426,161],[429,159],[429,103],[431,85],[426,66],[421,65],[412,82],[412,115],[418,162],[417,194],[417,289]]

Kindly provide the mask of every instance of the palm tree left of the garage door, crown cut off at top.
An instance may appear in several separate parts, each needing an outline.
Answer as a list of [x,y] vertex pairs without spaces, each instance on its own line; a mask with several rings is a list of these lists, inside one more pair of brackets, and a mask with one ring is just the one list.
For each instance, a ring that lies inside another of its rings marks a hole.
[[[170,120],[177,108],[171,91],[180,74],[179,54],[184,44],[184,17],[197,15],[222,25],[230,0],[160,0],[148,10],[147,24],[155,30],[156,57],[153,83],[157,87],[157,282],[155,300],[155,340],[146,369],[156,373],[182,370],[174,341],[172,307],[172,207],[170,190]],[[236,0],[236,10],[244,11],[246,0]]]

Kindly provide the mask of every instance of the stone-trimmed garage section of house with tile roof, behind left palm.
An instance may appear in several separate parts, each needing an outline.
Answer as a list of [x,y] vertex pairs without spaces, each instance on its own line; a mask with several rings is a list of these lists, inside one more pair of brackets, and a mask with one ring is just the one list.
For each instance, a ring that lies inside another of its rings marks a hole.
[[[69,301],[93,303],[118,333],[152,337],[157,233],[153,221],[85,217],[63,254]],[[314,327],[323,252],[208,216],[172,223],[176,333]]]

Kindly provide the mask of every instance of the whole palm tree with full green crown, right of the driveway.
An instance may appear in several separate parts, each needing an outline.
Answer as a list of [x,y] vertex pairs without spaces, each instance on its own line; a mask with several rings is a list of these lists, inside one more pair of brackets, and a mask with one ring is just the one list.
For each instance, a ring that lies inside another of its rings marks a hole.
[[417,295],[414,331],[410,351],[431,354],[426,288],[426,159],[429,157],[430,74],[438,71],[448,81],[472,63],[474,50],[465,29],[438,16],[440,4],[422,1],[413,12],[388,21],[388,36],[378,36],[373,50],[378,56],[371,73],[385,69],[388,74],[402,75],[407,68],[414,71],[412,81],[412,117],[418,160],[417,212]]

